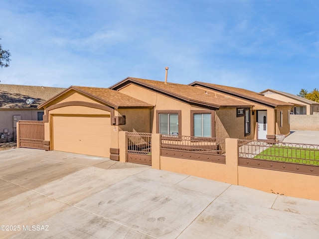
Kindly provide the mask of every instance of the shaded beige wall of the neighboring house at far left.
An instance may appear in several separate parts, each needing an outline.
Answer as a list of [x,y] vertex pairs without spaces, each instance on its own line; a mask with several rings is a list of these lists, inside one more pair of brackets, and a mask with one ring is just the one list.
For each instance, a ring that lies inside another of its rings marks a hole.
[[[16,125],[14,125],[15,120],[13,116],[20,116],[21,120],[38,120],[38,113],[43,113],[43,110],[38,110],[36,108],[26,108],[26,109],[11,109],[2,108],[0,109],[0,135],[3,134],[3,140],[13,140],[16,137]],[[4,133],[4,129],[7,129],[9,135]],[[2,139],[0,138],[0,141]]]

